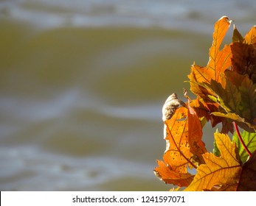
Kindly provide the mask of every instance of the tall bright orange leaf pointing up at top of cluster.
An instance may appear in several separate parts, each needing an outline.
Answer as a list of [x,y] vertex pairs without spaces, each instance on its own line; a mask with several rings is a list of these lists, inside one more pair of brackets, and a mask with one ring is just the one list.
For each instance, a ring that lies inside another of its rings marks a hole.
[[191,66],[191,73],[188,76],[190,79],[190,90],[201,96],[203,104],[209,102],[208,95],[212,95],[210,90],[204,88],[203,83],[210,84],[211,80],[214,79],[220,82],[223,87],[226,85],[224,71],[231,67],[232,53],[230,46],[224,46],[222,50],[220,50],[220,47],[230,23],[231,21],[226,16],[215,23],[212,46],[209,52],[210,60],[207,67],[200,67],[195,64]]

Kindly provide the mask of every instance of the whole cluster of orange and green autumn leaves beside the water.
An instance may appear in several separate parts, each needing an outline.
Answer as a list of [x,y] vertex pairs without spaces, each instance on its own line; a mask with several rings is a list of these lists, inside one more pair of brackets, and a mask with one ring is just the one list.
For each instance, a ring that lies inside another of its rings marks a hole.
[[[234,25],[221,48],[231,24],[226,16],[215,23],[209,62],[191,66],[196,99],[185,93],[185,104],[172,96],[164,105],[166,149],[154,173],[185,191],[256,191],[256,26],[243,37]],[[222,125],[213,152],[202,141],[207,122]]]

